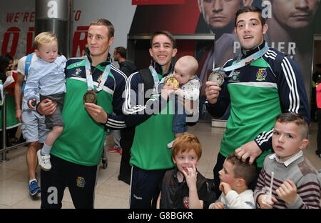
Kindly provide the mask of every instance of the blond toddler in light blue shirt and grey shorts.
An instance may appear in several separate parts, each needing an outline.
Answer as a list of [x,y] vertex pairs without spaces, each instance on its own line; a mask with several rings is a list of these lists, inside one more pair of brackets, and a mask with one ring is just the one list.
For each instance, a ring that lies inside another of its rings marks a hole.
[[61,111],[66,92],[65,66],[66,57],[58,56],[58,40],[50,32],[42,32],[34,39],[34,51],[39,57],[31,64],[29,76],[24,89],[24,96],[30,109],[35,109],[36,94],[40,94],[40,101],[51,99],[57,102],[54,114],[46,116],[46,128],[51,129],[44,147],[37,152],[41,169],[51,169],[50,150],[58,136],[63,132],[63,119]]

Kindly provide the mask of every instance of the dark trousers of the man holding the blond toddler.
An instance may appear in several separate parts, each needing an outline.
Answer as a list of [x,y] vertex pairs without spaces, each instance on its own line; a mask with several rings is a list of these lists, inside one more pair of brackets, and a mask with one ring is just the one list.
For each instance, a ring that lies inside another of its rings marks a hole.
[[83,166],[51,155],[51,170],[41,169],[41,208],[61,208],[68,187],[75,208],[92,209],[98,166]]

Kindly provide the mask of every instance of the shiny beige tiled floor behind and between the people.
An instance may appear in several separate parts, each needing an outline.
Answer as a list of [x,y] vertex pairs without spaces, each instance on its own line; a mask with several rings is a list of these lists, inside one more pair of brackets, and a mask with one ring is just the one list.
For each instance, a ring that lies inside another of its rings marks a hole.
[[[220,147],[220,139],[225,129],[212,128],[208,123],[199,123],[190,127],[188,132],[195,134],[203,144],[203,154],[198,170],[208,178],[213,178],[213,167]],[[316,169],[321,169],[321,159],[315,155],[317,125],[310,126],[308,149],[304,154]],[[113,146],[113,138],[109,136],[107,147]],[[0,162],[0,208],[2,209],[39,209],[40,195],[29,196],[27,189],[26,147],[19,147],[7,154],[9,161]],[[100,169],[96,186],[95,208],[128,208],[129,186],[118,181],[117,176],[121,162],[119,153],[108,153],[107,169]],[[101,165],[102,167],[102,165]],[[39,172],[39,169],[38,169]],[[63,208],[73,208],[68,189],[63,196]]]

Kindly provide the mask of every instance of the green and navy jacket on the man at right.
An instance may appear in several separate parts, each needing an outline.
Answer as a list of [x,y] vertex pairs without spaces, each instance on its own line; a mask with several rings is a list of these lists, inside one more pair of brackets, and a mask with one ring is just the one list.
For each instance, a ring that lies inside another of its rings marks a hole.
[[[242,52],[241,59],[255,54],[265,46]],[[235,63],[230,59],[224,65]],[[295,61],[270,48],[259,59],[240,69],[228,71],[218,101],[207,102],[213,117],[222,117],[230,104],[230,117],[220,144],[220,154],[228,157],[235,149],[255,140],[263,150],[257,158],[258,167],[272,148],[275,117],[285,112],[302,114],[310,123],[310,110],[301,71]]]

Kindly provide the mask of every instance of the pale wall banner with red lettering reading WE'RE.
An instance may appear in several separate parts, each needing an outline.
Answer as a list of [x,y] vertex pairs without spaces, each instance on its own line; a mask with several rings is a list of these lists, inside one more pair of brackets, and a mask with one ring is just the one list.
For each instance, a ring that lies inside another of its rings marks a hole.
[[[116,10],[117,9],[117,10]],[[131,0],[73,0],[71,9],[70,54],[80,56],[87,43],[88,26],[94,19],[104,18],[115,26],[115,39],[111,46],[127,45],[127,34],[136,10]],[[34,52],[35,1],[0,1],[0,47],[1,54],[20,59]],[[66,34],[67,35],[67,34]]]

